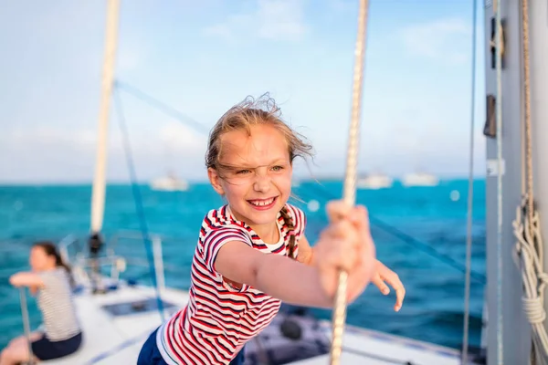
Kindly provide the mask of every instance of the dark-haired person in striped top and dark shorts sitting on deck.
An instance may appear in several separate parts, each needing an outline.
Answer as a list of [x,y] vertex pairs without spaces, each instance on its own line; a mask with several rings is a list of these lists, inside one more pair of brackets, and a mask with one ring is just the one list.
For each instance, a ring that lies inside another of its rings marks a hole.
[[[44,332],[31,333],[32,352],[37,360],[67,356],[79,349],[82,334],[72,302],[70,269],[51,242],[38,242],[30,251],[32,272],[9,278],[14,287],[30,287],[37,295]],[[0,355],[0,365],[15,365],[29,358],[25,336],[13,339]]]

